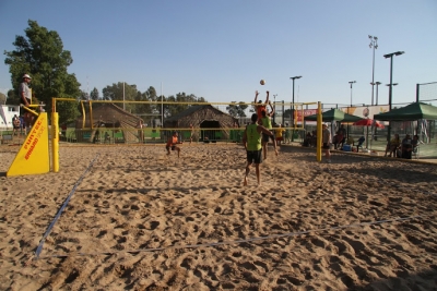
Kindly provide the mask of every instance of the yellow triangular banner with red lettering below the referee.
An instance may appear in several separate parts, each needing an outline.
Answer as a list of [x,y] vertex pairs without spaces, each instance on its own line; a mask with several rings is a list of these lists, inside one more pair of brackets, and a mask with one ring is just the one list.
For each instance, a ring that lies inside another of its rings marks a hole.
[[39,113],[16,154],[7,177],[39,174],[50,171],[47,112]]

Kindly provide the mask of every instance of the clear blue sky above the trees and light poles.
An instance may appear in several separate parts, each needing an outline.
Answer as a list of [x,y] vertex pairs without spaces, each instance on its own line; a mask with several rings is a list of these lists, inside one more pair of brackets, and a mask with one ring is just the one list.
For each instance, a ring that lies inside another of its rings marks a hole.
[[[11,51],[27,21],[56,31],[70,50],[82,90],[113,83],[185,92],[209,101],[252,101],[256,89],[279,100],[371,102],[373,49],[379,104],[415,100],[416,83],[437,82],[436,0],[1,0],[0,49]],[[0,63],[0,90],[11,88]],[[261,86],[259,81],[267,84]],[[162,86],[161,86],[162,84]],[[437,88],[434,90],[437,95]],[[434,96],[434,98],[437,98]],[[273,98],[272,98],[273,99]]]

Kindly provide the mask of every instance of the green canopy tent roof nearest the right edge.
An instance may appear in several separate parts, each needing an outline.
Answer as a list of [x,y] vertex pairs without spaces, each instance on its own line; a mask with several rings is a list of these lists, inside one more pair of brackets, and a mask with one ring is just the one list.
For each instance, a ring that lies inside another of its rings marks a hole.
[[414,102],[389,112],[375,114],[374,119],[381,121],[414,121],[420,119],[437,120],[437,107]]

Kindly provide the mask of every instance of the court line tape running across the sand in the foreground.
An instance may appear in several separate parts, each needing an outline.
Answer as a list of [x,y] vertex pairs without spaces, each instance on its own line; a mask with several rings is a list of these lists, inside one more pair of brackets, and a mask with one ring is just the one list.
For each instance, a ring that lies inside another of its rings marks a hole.
[[167,251],[167,250],[184,250],[184,248],[198,248],[198,247],[206,247],[206,246],[227,245],[227,244],[240,244],[240,243],[247,243],[247,242],[274,240],[274,239],[281,239],[281,238],[286,238],[286,237],[298,237],[298,235],[310,234],[314,232],[322,232],[322,231],[328,231],[328,230],[339,230],[339,229],[357,228],[357,227],[364,227],[364,226],[382,225],[382,223],[388,223],[388,222],[406,221],[406,220],[411,220],[411,219],[415,219],[415,218],[425,218],[425,217],[426,216],[410,216],[410,217],[403,217],[403,218],[385,219],[385,220],[378,220],[378,221],[353,223],[353,225],[331,227],[331,228],[321,228],[321,229],[288,232],[288,233],[282,233],[282,234],[272,234],[272,235],[268,235],[268,237],[258,237],[258,238],[250,238],[250,239],[236,240],[236,241],[223,241],[223,242],[186,244],[186,245],[169,245],[169,246],[163,246],[163,247],[139,248],[139,250],[131,250],[131,251],[127,250],[127,251],[96,252],[96,253],[75,253],[74,252],[72,254],[47,255],[47,256],[42,256],[39,258],[54,258],[54,257],[63,258],[63,257],[71,257],[71,256],[115,255],[115,254],[123,254],[123,253],[152,253],[152,252],[161,252],[161,251]]

